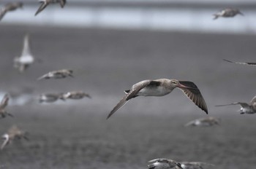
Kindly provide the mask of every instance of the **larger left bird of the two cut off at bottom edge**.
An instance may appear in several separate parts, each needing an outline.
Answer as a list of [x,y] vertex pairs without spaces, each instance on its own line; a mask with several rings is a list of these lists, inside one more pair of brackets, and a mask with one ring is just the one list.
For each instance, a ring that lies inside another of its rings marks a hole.
[[174,160],[167,160],[165,158],[159,158],[148,161],[148,169],[171,169],[171,168],[181,168],[181,164]]

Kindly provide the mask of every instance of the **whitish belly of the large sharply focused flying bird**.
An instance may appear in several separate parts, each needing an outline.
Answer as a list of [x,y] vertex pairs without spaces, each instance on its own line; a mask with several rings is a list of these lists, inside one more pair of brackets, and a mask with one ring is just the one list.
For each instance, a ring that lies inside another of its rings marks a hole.
[[139,91],[138,95],[143,96],[162,96],[170,93],[170,90],[166,90],[165,87],[145,87]]

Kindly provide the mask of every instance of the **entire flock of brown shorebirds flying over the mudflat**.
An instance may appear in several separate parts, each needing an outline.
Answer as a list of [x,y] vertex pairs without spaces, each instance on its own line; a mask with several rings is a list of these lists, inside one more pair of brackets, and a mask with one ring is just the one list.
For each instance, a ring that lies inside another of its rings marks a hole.
[[[37,9],[37,12],[35,15],[39,14],[39,12],[42,12],[45,7],[48,6],[48,4],[51,3],[59,3],[61,7],[64,7],[66,4],[65,0],[39,0],[41,5],[39,6],[39,9]],[[22,2],[15,2],[15,3],[9,3],[6,4],[3,8],[0,10],[0,20],[8,11],[12,11],[15,9],[18,9],[19,7],[23,7]],[[214,20],[216,20],[218,17],[234,17],[236,15],[243,15],[238,9],[223,9],[220,12],[217,12],[214,14]],[[23,41],[23,51],[22,54],[18,57],[15,57],[13,60],[14,67],[18,69],[18,71],[26,71],[29,66],[31,66],[32,63],[34,63],[36,59],[31,54],[31,50],[29,47],[29,35],[26,35],[24,37]],[[239,62],[233,62],[230,60],[225,60],[229,63],[238,63],[238,64],[245,64],[250,66],[256,66],[256,63],[239,63]],[[44,74],[42,76],[39,76],[37,80],[42,79],[63,79],[66,77],[73,77],[73,71],[69,69],[61,69],[57,71],[50,71],[47,74]],[[196,84],[194,82],[189,81],[181,81],[177,79],[147,79],[143,80],[141,82],[138,82],[136,84],[133,84],[132,87],[129,90],[124,90],[124,98],[121,99],[117,103],[117,105],[110,111],[108,114],[108,118],[110,118],[118,109],[121,109],[122,106],[124,106],[129,100],[132,98],[136,98],[138,96],[163,96],[171,93],[175,88],[178,88],[181,90],[187,98],[189,98],[193,103],[195,103],[196,106],[198,106],[200,109],[206,112],[208,114],[208,109],[206,106],[206,101],[204,101],[203,95],[200,93],[200,90],[197,88]],[[39,103],[47,102],[52,103],[57,100],[65,101],[67,99],[81,99],[81,98],[91,98],[91,96],[87,93],[84,93],[83,91],[72,91],[67,93],[48,93],[48,94],[42,94],[39,95]],[[6,111],[6,107],[9,101],[9,96],[6,94],[4,95],[4,98],[2,98],[0,103],[0,117],[4,118],[7,116],[13,117],[12,114],[8,113]],[[256,113],[256,96],[252,99],[250,103],[242,103],[242,102],[236,102],[236,103],[230,103],[225,105],[217,105],[217,106],[227,106],[227,105],[236,105],[239,104],[241,106],[241,114],[254,114]],[[219,125],[220,119],[217,119],[215,117],[206,117],[206,118],[200,118],[195,119],[192,122],[188,122],[185,126],[212,126],[212,125]],[[2,138],[4,139],[3,144],[1,144],[1,149],[4,149],[4,146],[7,144],[10,144],[12,140],[15,138],[25,138],[26,132],[23,130],[20,130],[16,125],[13,125],[10,130],[7,131],[7,133],[4,133],[2,135]],[[149,169],[170,169],[170,168],[184,168],[184,169],[196,169],[200,168],[203,169],[204,165],[213,166],[211,164],[207,164],[204,162],[176,162],[174,160],[167,160],[164,158],[155,159],[148,161],[148,168]]]

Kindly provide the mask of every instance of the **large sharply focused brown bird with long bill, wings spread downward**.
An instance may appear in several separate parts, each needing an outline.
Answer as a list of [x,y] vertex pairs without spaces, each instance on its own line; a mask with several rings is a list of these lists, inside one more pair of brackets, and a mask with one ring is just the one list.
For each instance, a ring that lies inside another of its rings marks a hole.
[[187,97],[195,103],[200,109],[206,111],[208,114],[208,109],[206,102],[201,95],[200,90],[193,82],[189,81],[178,81],[176,79],[156,79],[156,80],[143,80],[132,85],[130,90],[125,90],[126,95],[121,101],[110,111],[107,119],[114,114],[118,109],[124,106],[131,98],[137,96],[163,96],[171,93],[173,89],[178,87],[182,90]]

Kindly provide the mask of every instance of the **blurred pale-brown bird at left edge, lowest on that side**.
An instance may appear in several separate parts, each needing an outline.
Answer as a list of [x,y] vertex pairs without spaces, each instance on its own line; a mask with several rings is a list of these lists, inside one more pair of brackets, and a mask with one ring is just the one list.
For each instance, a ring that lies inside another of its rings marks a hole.
[[10,127],[10,129],[5,133],[4,135],[1,136],[4,138],[3,144],[1,144],[1,149],[4,149],[4,146],[7,144],[10,144],[14,139],[20,139],[20,138],[25,138],[27,141],[29,140],[26,137],[26,132],[20,130],[16,125],[13,125]]

